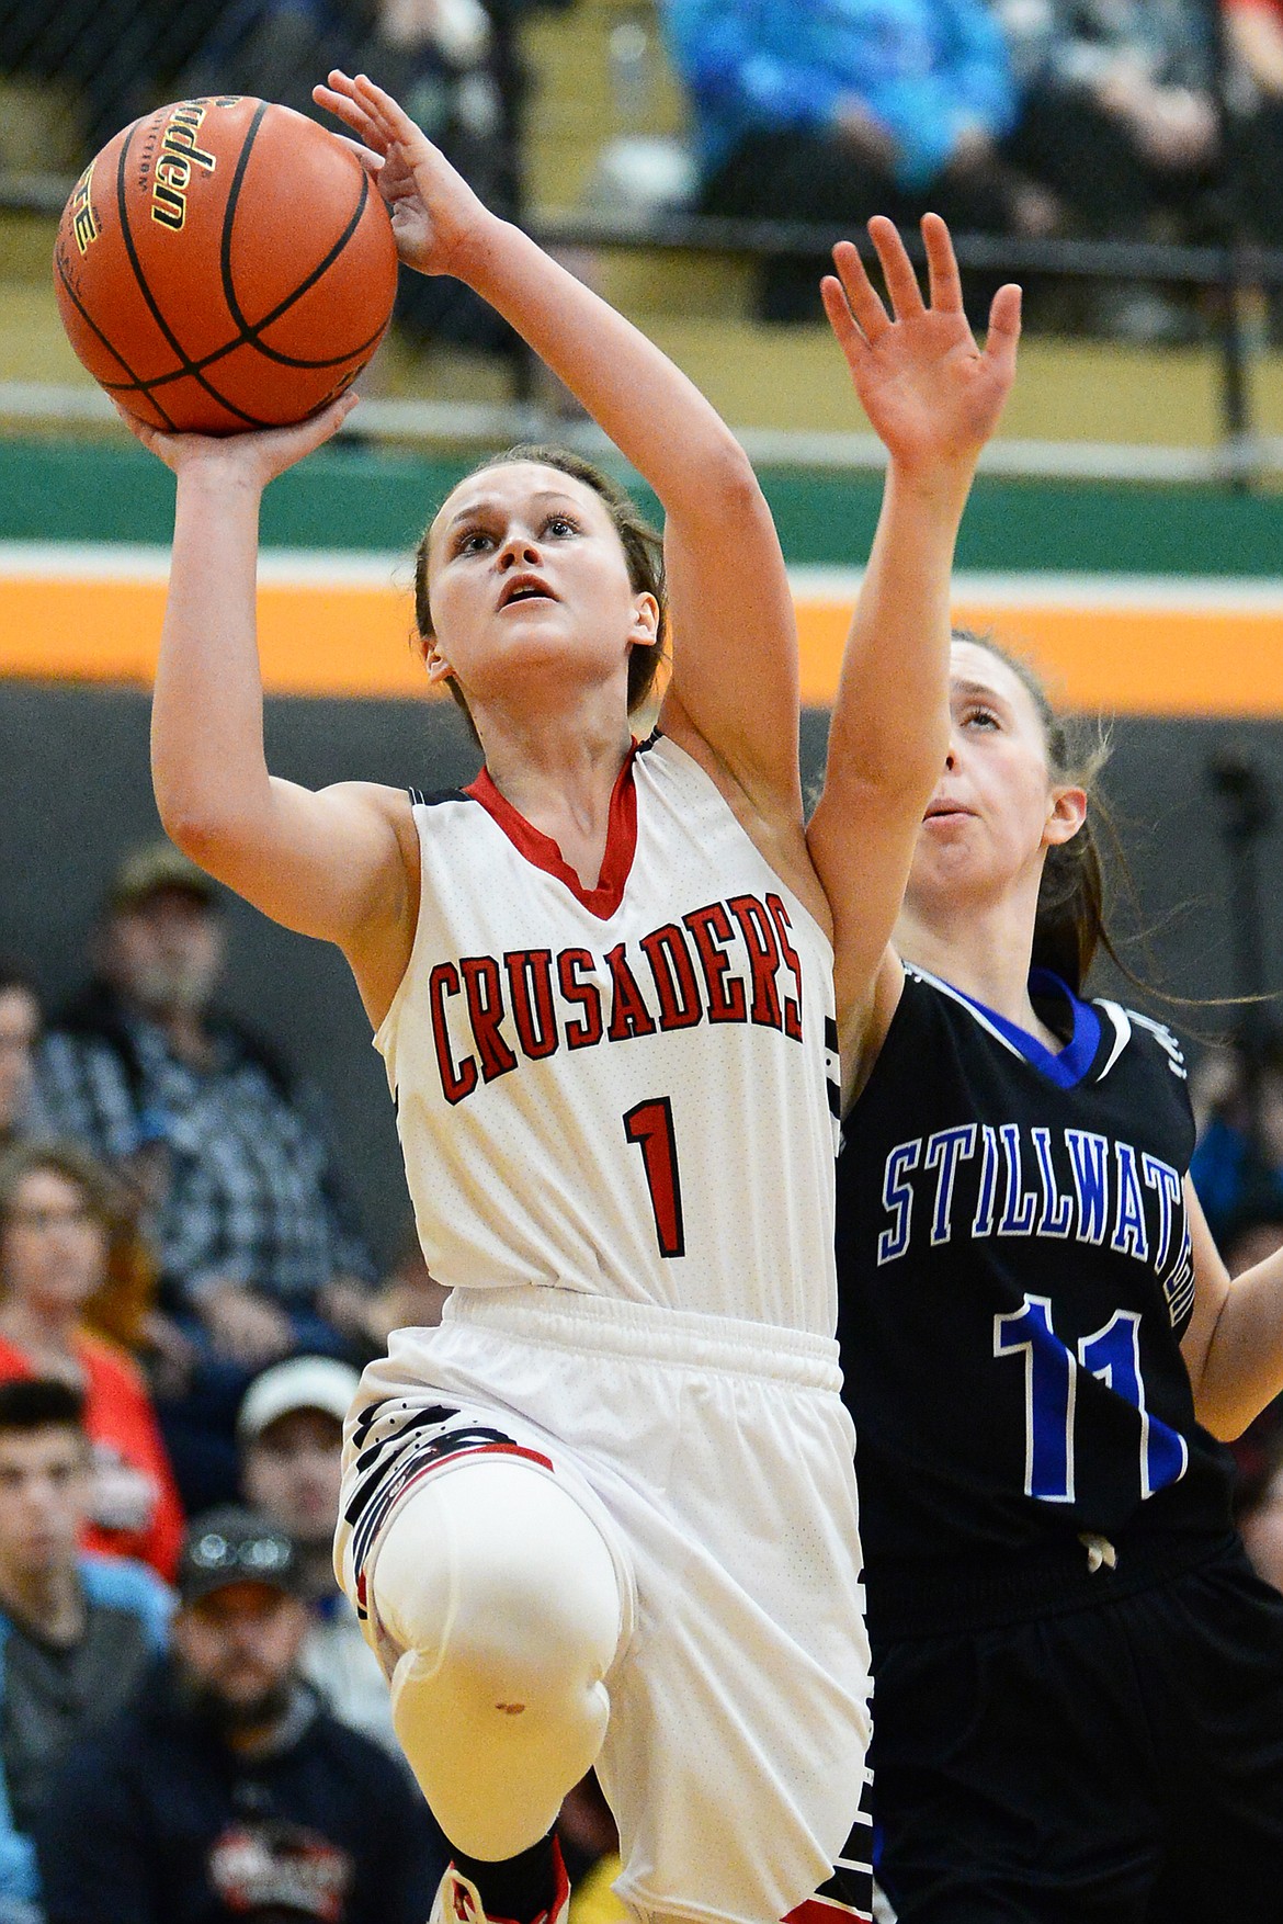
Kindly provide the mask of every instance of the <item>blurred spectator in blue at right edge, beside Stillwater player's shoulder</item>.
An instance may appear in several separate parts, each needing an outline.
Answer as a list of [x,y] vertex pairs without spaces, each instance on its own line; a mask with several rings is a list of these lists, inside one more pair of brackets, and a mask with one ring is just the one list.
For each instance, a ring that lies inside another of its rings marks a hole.
[[1283,1035],[1210,1049],[1193,1079],[1198,1147],[1189,1174],[1218,1245],[1283,1216]]

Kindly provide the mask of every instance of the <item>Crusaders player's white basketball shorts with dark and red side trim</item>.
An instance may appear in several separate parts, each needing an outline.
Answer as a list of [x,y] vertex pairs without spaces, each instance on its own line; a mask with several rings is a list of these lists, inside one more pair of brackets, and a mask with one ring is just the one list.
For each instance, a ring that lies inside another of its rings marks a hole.
[[[869,1676],[837,1345],[556,1289],[456,1291],[439,1329],[392,1335],[348,1420],[335,1564],[362,1614],[398,1499],[485,1451],[558,1478],[616,1558],[627,1622],[596,1772],[629,1909],[773,1924],[839,1861],[858,1889]],[[843,1909],[866,1905],[825,1907]]]

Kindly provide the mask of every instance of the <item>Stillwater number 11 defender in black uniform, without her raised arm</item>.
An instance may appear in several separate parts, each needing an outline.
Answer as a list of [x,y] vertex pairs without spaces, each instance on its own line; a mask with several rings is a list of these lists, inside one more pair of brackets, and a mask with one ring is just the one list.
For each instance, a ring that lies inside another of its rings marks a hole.
[[1179,1045],[1075,993],[1083,837],[1037,683],[956,643],[862,1008],[839,949],[879,1878],[900,1924],[1277,1924],[1283,1599],[1202,1426],[1283,1387],[1283,1262],[1229,1285]]

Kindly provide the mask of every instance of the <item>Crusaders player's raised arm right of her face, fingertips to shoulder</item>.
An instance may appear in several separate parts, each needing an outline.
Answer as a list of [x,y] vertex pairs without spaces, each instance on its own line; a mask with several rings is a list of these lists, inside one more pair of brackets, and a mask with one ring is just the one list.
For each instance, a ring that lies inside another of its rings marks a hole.
[[315,100],[365,148],[402,260],[473,287],[650,483],[666,514],[677,633],[664,725],[679,739],[696,731],[760,810],[783,804],[800,827],[792,600],[739,443],[654,342],[489,214],[389,94],[364,75],[331,73]]

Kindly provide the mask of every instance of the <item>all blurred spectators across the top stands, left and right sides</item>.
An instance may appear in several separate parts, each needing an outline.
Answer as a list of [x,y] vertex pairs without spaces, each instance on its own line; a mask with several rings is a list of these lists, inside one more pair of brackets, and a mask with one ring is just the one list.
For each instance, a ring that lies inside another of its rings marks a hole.
[[[514,25],[569,4],[38,0],[4,12],[0,73],[71,81],[90,154],[167,94],[244,90],[315,112],[314,77],[364,67],[516,215],[529,75]],[[1200,242],[1233,225],[1283,246],[1283,0],[646,4],[685,92],[706,214],[850,233],[873,212],[914,221],[931,206],[998,237]],[[623,150],[646,171],[637,144]],[[818,317],[819,266],[767,260],[760,314]],[[1075,304],[1068,285],[1058,323],[1139,339],[1200,327],[1179,289],[1091,283]],[[408,275],[398,312],[421,341],[514,346],[448,279]]]

